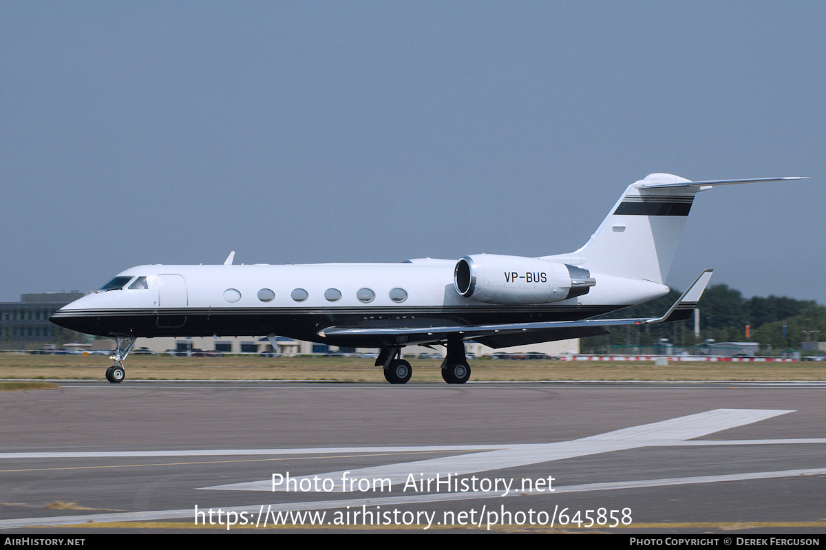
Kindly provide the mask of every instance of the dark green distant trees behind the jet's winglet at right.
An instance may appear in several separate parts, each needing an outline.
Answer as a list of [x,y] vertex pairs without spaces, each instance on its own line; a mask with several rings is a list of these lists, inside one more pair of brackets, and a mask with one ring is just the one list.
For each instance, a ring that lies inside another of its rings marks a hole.
[[[657,300],[627,307],[606,317],[657,317],[679,298],[672,290]],[[694,317],[690,320],[657,325],[615,327],[611,334],[583,338],[583,353],[605,353],[606,346],[653,346],[660,339],[680,347],[702,344],[705,339],[717,342],[757,342],[762,350],[781,352],[800,349],[803,342],[826,339],[826,306],[811,300],[786,296],[743,298],[739,291],[726,285],[706,289],[700,302],[700,338],[694,335]],[[746,336],[746,325],[750,335]],[[783,326],[786,325],[784,336]]]

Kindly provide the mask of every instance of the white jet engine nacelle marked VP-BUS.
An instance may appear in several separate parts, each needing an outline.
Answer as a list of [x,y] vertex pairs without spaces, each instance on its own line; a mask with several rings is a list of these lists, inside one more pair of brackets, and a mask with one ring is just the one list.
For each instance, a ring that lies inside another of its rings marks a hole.
[[582,296],[594,285],[587,269],[540,258],[474,254],[453,269],[456,292],[490,304],[544,304]]

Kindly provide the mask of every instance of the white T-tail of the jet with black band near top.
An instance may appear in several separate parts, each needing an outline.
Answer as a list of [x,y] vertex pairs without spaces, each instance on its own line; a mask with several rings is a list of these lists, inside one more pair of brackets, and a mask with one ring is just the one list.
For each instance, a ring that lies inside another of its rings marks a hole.
[[754,178],[691,182],[653,173],[632,183],[576,252],[545,256],[591,273],[664,284],[695,195],[718,185],[805,178]]

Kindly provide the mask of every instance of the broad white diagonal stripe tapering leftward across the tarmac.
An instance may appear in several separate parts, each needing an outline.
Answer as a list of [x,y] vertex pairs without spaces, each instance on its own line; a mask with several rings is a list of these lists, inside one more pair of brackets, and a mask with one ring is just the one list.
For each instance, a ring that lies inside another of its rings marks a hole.
[[[717,409],[697,415],[681,416],[672,420],[663,420],[653,424],[643,424],[631,428],[618,429],[606,434],[563,441],[558,443],[538,443],[527,445],[509,445],[485,453],[471,453],[460,456],[430,458],[415,462],[399,462],[377,467],[358,468],[349,471],[320,472],[308,476],[295,477],[298,486],[302,480],[306,486],[317,486],[313,480],[330,480],[335,485],[333,491],[358,491],[358,480],[389,480],[396,486],[403,485],[412,474],[416,479],[435,479],[437,475],[444,478],[447,474],[463,476],[477,472],[489,472],[518,466],[527,466],[539,462],[563,460],[564,458],[582,457],[589,454],[610,453],[629,448],[650,447],[698,438],[724,429],[752,424],[767,420],[773,416],[785,415],[790,410],[760,409]],[[352,481],[357,480],[357,481]],[[202,487],[203,489],[220,489],[225,491],[273,491],[273,480],[247,481],[229,485]],[[276,491],[286,491],[287,484],[280,483]],[[321,490],[319,490],[320,492]]]

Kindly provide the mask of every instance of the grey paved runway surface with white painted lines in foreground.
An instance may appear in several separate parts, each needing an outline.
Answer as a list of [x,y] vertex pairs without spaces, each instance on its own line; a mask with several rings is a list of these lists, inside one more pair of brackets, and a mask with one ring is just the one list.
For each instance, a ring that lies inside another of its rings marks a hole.
[[0,393],[4,533],[826,531],[823,383],[61,385]]

